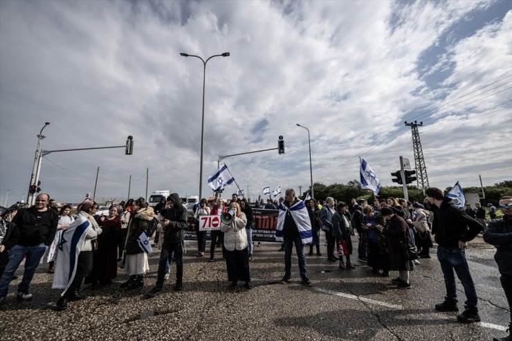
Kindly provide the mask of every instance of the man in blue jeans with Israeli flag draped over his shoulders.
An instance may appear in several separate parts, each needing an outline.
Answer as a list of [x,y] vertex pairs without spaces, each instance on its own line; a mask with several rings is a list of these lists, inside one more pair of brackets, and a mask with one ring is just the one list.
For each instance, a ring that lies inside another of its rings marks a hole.
[[302,284],[311,286],[306,274],[306,256],[304,255],[304,244],[313,241],[311,221],[306,204],[297,199],[295,191],[291,188],[284,192],[284,201],[279,205],[275,240],[284,241],[284,277],[281,284],[287,284],[291,278],[291,252],[295,243]]

